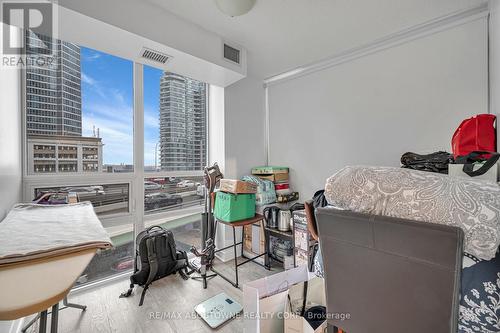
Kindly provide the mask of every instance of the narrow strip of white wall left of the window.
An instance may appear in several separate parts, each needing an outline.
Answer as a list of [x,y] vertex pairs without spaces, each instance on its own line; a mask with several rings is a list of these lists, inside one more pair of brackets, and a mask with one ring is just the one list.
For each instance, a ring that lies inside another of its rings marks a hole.
[[[5,26],[0,25],[0,36]],[[0,56],[3,48],[0,45]],[[21,201],[20,70],[0,66],[0,220]]]

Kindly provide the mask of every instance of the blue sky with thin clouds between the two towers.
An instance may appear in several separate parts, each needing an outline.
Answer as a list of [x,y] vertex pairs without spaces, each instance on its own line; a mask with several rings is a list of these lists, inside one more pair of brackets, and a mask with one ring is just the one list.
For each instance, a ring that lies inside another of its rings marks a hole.
[[[133,62],[81,47],[82,131],[99,128],[103,164],[133,164]],[[159,141],[159,93],[163,71],[144,66],[144,164],[154,165]]]

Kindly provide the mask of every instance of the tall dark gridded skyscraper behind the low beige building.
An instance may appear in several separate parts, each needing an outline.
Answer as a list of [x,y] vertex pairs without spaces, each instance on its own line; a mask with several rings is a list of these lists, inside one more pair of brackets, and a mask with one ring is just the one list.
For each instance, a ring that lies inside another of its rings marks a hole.
[[80,47],[31,31],[26,47],[38,60],[26,67],[27,134],[81,136]]

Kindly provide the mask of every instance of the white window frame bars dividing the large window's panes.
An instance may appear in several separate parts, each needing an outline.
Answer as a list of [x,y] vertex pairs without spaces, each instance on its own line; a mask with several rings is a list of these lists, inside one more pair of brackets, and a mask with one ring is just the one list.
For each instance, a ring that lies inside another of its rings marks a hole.
[[[99,51],[99,50],[98,50]],[[110,54],[113,55],[113,54]],[[114,56],[114,55],[113,55]],[[23,201],[31,202],[34,190],[37,187],[51,186],[82,186],[82,185],[106,185],[106,184],[128,184],[129,207],[127,212],[114,213],[100,216],[103,224],[108,226],[132,224],[134,239],[137,234],[144,230],[146,225],[161,220],[162,223],[178,219],[183,216],[198,214],[202,207],[188,207],[179,210],[145,214],[144,212],[144,180],[151,177],[182,177],[202,176],[203,170],[199,171],[148,171],[144,170],[144,65],[132,59],[133,66],[133,172],[124,173],[85,173],[78,170],[68,174],[30,174],[27,138],[27,72],[26,68],[21,70],[21,123],[22,123],[22,196]],[[147,64],[151,66],[151,64]],[[155,66],[152,66],[155,67]],[[164,70],[159,67],[155,67]],[[206,162],[209,157],[209,90],[210,84],[206,84]]]

